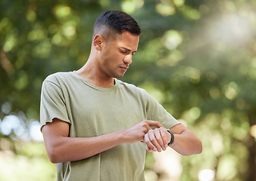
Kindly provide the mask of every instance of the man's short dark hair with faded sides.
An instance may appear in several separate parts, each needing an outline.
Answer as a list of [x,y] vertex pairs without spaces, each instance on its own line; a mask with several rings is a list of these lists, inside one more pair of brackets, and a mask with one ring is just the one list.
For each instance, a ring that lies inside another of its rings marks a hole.
[[116,33],[122,34],[123,32],[130,32],[132,35],[141,34],[136,20],[123,11],[104,11],[93,27],[93,37],[96,34],[101,34],[108,39],[113,38]]

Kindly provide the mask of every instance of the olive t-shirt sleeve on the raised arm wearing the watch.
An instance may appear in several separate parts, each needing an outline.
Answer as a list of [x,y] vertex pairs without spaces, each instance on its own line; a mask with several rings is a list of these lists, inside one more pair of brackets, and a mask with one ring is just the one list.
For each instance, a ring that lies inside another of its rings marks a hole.
[[164,107],[161,106],[161,104],[158,103],[158,101],[155,100],[154,97],[151,97],[151,95],[146,92],[145,94],[147,97],[146,114],[148,120],[158,121],[166,128],[170,128],[175,126],[176,124],[180,124],[180,122],[177,121],[176,118],[173,118],[173,116],[170,115],[170,113],[167,112],[167,110],[164,109]]

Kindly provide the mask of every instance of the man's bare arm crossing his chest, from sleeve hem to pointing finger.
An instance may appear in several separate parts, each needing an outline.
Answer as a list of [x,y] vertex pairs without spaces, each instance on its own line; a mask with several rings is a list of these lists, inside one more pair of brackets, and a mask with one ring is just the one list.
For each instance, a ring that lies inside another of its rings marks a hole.
[[98,137],[69,137],[70,124],[54,118],[42,127],[45,148],[52,163],[78,161],[89,158],[122,143],[143,142],[151,127],[162,127],[158,121],[141,121],[126,130]]

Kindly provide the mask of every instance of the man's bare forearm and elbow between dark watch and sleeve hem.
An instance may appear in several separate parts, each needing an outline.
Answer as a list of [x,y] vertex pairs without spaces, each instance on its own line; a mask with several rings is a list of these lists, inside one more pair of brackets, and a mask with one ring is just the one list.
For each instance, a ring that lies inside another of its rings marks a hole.
[[184,130],[180,134],[174,134],[174,142],[170,146],[181,155],[194,155],[202,152],[202,143],[190,130]]

